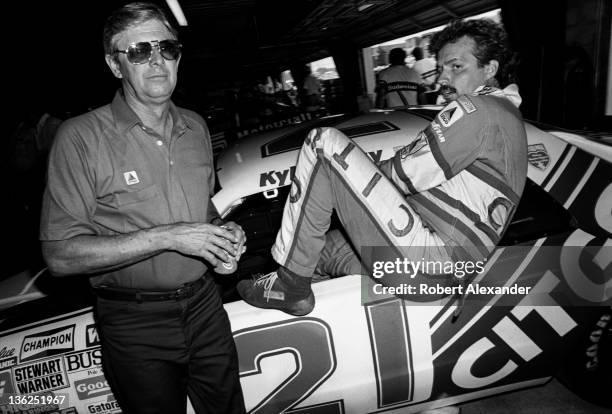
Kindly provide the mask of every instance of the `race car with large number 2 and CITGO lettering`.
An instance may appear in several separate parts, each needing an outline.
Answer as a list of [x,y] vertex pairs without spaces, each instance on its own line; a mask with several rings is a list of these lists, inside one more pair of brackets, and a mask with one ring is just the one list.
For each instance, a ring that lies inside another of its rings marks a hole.
[[[213,201],[248,238],[237,274],[218,282],[249,412],[418,412],[553,375],[610,404],[612,146],[605,138],[526,123],[521,203],[463,297],[413,302],[377,293],[368,274],[349,275],[315,283],[313,312],[293,317],[251,307],[233,292],[237,279],[271,264],[297,151],[312,128],[338,128],[378,161],[438,110],[325,117],[245,137],[217,159]],[[120,412],[101,369],[91,298],[74,289],[85,279],[13,280],[0,322],[0,413],[31,409],[16,396],[46,397],[36,412]],[[43,297],[36,285],[45,283],[53,294]],[[31,300],[18,304],[23,299]]]

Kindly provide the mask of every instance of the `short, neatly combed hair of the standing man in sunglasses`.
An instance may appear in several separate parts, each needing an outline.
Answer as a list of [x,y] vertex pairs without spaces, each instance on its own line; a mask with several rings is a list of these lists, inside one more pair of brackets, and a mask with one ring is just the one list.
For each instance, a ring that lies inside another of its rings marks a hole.
[[158,20],[178,39],[178,32],[170,23],[166,12],[154,3],[135,2],[126,4],[115,11],[106,19],[102,41],[104,53],[111,55],[114,50],[113,38],[129,29],[149,20]]

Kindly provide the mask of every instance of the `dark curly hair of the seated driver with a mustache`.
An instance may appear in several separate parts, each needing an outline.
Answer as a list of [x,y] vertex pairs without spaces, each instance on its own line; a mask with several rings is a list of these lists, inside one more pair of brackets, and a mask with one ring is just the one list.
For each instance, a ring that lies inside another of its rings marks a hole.
[[434,34],[429,43],[429,51],[438,57],[440,49],[448,43],[455,43],[463,36],[474,40],[473,54],[479,66],[491,60],[499,62],[495,75],[497,85],[505,88],[516,82],[516,65],[518,59],[510,48],[508,35],[503,26],[489,19],[455,20],[442,31]]

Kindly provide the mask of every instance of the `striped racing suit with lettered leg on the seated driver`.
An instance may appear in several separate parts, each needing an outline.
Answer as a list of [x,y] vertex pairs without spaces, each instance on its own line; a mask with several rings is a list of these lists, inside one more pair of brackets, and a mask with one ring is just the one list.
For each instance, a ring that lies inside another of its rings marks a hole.
[[[485,259],[525,183],[527,138],[519,103],[515,85],[462,95],[379,165],[338,130],[311,131],[272,247],[274,259],[306,277],[317,264],[341,274],[362,272],[357,258],[347,260],[347,251],[357,252],[371,270],[368,246],[387,246],[410,261]],[[339,246],[337,237],[333,246],[328,237],[326,246],[333,209],[354,250]],[[394,284],[385,278],[382,283]]]

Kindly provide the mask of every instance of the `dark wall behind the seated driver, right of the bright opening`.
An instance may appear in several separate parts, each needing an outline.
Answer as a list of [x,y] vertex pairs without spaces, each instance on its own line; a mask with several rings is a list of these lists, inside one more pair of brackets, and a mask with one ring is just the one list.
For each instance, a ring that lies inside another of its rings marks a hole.
[[609,129],[605,93],[608,0],[500,0],[521,63],[526,118],[575,129]]

